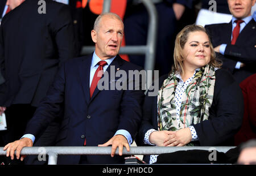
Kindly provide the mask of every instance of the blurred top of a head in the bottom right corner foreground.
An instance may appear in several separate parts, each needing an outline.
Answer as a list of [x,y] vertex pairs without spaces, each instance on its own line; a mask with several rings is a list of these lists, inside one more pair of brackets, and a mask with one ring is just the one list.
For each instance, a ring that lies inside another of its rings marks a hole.
[[256,139],[251,139],[241,146],[237,164],[256,165]]

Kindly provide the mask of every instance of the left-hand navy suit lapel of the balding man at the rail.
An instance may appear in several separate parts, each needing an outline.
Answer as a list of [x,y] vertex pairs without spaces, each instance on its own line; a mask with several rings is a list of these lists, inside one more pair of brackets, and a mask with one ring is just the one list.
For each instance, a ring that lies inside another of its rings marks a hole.
[[81,78],[82,91],[84,92],[85,101],[89,104],[90,101],[90,65],[92,64],[92,54],[84,57],[79,65],[79,74]]

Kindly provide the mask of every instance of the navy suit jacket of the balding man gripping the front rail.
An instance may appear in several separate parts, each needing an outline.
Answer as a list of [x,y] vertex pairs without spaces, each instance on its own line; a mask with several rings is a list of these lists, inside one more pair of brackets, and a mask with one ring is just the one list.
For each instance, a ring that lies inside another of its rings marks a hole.
[[[28,123],[25,134],[38,136],[53,121],[56,114],[64,109],[64,118],[57,135],[57,146],[97,146],[111,139],[117,130],[128,131],[132,138],[137,134],[142,117],[141,90],[102,90],[95,89],[92,98],[89,95],[89,75],[92,55],[69,59],[63,66],[49,88],[46,98],[36,110]],[[140,67],[124,61],[119,55],[115,57],[106,72],[109,75],[105,84],[116,83],[110,68],[123,70],[141,70]],[[119,69],[117,69],[119,68]],[[105,78],[105,76],[103,77]],[[106,78],[105,78],[106,79]],[[130,81],[130,80],[129,80]],[[135,83],[135,80],[132,81]],[[125,82],[124,82],[125,83]],[[135,84],[134,84],[135,85]],[[123,164],[123,157],[86,156],[88,164]],[[79,164],[80,156],[59,156],[58,164]]]

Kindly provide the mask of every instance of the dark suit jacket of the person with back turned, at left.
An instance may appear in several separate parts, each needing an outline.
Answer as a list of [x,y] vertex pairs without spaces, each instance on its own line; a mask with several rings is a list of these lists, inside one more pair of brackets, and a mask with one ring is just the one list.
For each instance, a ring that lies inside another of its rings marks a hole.
[[75,40],[69,6],[26,0],[6,14],[0,28],[0,106],[38,106],[61,63],[73,58]]

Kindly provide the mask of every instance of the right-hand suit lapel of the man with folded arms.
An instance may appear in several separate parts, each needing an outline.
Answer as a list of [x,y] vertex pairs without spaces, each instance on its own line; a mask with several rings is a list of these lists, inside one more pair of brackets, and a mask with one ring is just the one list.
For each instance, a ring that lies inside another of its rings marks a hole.
[[251,19],[250,22],[243,28],[240,35],[237,38],[236,44],[245,44],[248,38],[251,38],[255,35],[256,32],[256,22],[254,19]]

